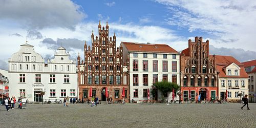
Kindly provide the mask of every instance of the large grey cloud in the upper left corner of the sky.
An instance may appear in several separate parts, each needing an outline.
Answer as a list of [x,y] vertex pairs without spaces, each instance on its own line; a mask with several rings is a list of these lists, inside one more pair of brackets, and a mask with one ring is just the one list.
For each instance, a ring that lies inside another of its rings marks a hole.
[[74,29],[86,14],[70,0],[0,1],[0,20],[27,29],[63,27]]

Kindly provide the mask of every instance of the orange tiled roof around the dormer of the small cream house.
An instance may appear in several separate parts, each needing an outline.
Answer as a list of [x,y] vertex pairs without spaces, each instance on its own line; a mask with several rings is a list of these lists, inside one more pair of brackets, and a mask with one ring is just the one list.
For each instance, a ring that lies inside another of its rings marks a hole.
[[[236,63],[236,65],[238,65],[240,67],[239,76],[227,76],[226,75],[224,69],[227,66],[231,65],[232,63]],[[219,77],[248,78],[248,75],[245,72],[244,65],[232,56],[216,55],[216,65],[217,65],[217,71],[219,72]]]

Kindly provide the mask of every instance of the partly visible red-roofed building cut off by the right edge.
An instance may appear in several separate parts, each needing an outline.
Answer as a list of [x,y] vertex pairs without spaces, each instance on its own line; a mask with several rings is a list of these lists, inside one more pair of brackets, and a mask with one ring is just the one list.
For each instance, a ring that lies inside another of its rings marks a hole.
[[251,61],[242,62],[245,67],[245,71],[249,76],[248,89],[249,89],[249,102],[256,102],[256,59]]

